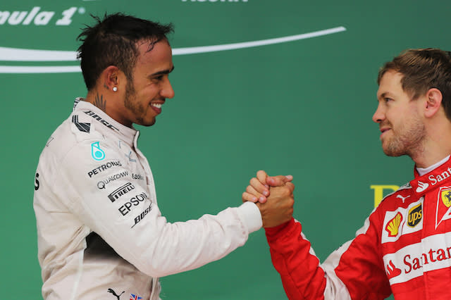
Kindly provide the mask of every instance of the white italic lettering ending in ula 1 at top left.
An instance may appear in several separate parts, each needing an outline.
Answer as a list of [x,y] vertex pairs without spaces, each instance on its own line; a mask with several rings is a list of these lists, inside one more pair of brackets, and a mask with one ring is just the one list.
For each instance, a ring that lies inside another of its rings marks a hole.
[[[85,13],[83,7],[70,7],[61,13],[61,18],[55,21],[55,25],[67,26],[72,23],[73,15],[78,13]],[[35,6],[31,11],[0,11],[0,25],[8,23],[9,25],[48,25],[55,15],[55,11],[41,11],[39,6]]]

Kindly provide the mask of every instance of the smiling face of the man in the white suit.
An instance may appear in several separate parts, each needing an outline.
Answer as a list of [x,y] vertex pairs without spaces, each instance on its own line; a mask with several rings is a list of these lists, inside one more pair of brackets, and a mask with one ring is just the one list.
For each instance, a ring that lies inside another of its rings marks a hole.
[[166,98],[174,96],[168,78],[174,68],[171,46],[166,40],[156,42],[150,51],[149,46],[149,41],[137,44],[139,56],[132,79],[126,80],[119,122],[129,127],[132,123],[154,125],[156,115],[161,113],[161,106]]

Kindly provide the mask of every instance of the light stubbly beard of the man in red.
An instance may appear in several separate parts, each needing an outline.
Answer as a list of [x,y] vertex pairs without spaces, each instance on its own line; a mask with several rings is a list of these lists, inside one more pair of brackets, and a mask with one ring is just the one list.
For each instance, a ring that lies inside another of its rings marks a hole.
[[412,157],[424,151],[423,144],[426,138],[426,127],[420,120],[414,119],[411,123],[402,125],[397,130],[394,130],[390,123],[388,125],[392,128],[392,132],[391,136],[387,137],[388,140],[382,144],[385,155],[408,155]]

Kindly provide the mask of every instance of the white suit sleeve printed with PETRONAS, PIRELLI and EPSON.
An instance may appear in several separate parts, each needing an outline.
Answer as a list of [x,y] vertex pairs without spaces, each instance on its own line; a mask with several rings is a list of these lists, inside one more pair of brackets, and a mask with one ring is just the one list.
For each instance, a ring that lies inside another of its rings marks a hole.
[[108,144],[102,145],[105,158],[96,161],[91,142],[78,144],[63,159],[56,185],[64,189],[58,198],[143,273],[161,277],[199,268],[242,246],[261,227],[259,209],[251,203],[168,223],[145,177],[133,177],[130,163]]

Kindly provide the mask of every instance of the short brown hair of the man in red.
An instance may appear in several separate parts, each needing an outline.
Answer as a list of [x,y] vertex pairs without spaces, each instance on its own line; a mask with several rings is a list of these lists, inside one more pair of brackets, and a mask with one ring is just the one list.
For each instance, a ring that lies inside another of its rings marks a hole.
[[389,71],[403,75],[402,89],[412,99],[426,94],[435,87],[443,96],[442,105],[446,116],[451,120],[451,52],[440,49],[408,49],[388,61],[379,70],[378,84],[383,75]]

